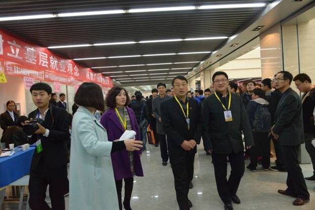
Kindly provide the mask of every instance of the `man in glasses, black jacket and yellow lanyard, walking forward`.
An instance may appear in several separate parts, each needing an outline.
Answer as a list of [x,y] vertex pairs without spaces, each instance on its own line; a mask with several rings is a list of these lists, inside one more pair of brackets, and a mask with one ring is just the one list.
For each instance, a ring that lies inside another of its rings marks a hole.
[[[247,149],[254,146],[253,134],[241,98],[227,89],[227,74],[216,72],[212,81],[216,91],[202,104],[203,141],[205,149],[212,153],[217,189],[224,209],[233,209],[232,201],[240,203],[236,192],[245,168],[241,132]],[[227,156],[231,163],[228,180]]]

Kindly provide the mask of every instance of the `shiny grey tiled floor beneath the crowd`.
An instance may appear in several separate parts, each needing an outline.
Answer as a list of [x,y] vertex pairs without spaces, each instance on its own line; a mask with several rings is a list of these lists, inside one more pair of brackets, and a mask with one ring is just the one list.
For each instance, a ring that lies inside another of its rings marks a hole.
[[[159,148],[150,145],[147,149],[148,151],[145,151],[142,156],[145,177],[135,177],[131,199],[132,209],[178,210],[170,164],[162,166]],[[248,163],[249,161],[246,160],[246,164]],[[312,174],[311,164],[303,164],[301,167],[305,177]],[[261,166],[258,166],[258,171],[255,173],[246,170],[237,192],[241,204],[234,204],[234,209],[314,210],[315,183],[306,183],[310,193],[310,202],[297,207],[292,205],[294,198],[277,194],[278,189],[286,189],[286,177],[287,173],[264,171]],[[204,154],[202,146],[198,147],[195,157],[193,184],[194,188],[189,192],[189,198],[193,203],[192,209],[223,209],[223,203],[217,193],[211,156]],[[66,197],[66,205],[67,203],[68,197]],[[15,209],[17,209],[17,204],[5,204],[5,210]]]

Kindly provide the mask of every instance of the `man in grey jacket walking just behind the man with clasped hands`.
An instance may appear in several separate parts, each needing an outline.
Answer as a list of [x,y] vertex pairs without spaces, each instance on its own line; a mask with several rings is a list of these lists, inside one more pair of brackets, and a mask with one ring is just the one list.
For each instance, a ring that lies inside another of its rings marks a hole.
[[162,165],[165,166],[167,165],[168,161],[168,152],[166,135],[161,122],[161,102],[166,100],[167,98],[170,98],[170,96],[166,95],[165,93],[166,85],[164,83],[159,83],[156,87],[158,89],[159,95],[152,100],[152,111],[156,119],[156,132],[160,142]]

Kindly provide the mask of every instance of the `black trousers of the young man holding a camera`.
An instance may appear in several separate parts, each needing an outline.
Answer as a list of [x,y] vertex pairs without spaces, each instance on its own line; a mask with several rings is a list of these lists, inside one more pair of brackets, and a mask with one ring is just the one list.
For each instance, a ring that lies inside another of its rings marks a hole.
[[[39,163],[36,169],[30,171],[29,176],[29,207],[32,210],[63,210],[65,209],[64,194],[69,189],[67,179],[67,166],[50,169],[47,165]],[[46,203],[46,190],[49,185],[51,206]]]

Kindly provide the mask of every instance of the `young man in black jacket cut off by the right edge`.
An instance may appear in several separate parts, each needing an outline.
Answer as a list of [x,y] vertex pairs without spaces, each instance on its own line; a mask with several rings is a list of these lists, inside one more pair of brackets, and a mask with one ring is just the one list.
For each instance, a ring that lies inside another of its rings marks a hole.
[[315,87],[308,75],[302,73],[293,78],[296,87],[303,93],[302,109],[303,109],[303,127],[305,137],[305,148],[308,152],[313,165],[313,175],[305,178],[306,181],[315,181],[315,147],[312,141],[315,139],[315,125],[313,110],[315,108]]

